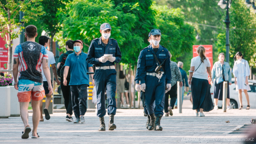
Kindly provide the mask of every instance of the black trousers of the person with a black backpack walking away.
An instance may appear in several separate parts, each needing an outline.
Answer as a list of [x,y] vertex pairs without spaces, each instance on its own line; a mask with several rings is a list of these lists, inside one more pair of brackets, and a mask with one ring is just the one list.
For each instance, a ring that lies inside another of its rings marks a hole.
[[70,79],[67,79],[67,86],[63,84],[63,78],[60,79],[60,88],[62,91],[62,95],[64,98],[64,104],[65,108],[67,110],[67,114],[72,115],[73,114],[73,108],[72,108],[72,100],[71,100],[71,91],[69,84]]

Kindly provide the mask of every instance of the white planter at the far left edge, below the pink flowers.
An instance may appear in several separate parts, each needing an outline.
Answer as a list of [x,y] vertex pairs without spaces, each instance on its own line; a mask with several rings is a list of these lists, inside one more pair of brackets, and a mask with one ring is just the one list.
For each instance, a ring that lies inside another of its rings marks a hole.
[[0,118],[8,118],[11,115],[11,88],[0,86]]

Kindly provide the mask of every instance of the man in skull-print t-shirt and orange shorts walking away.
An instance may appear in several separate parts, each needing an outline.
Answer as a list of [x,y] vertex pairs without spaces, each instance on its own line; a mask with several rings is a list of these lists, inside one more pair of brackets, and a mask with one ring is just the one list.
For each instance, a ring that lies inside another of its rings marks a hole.
[[[13,54],[13,77],[14,88],[18,90],[18,99],[20,102],[20,117],[24,123],[24,131],[21,138],[28,139],[31,128],[28,124],[28,105],[31,99],[33,109],[33,131],[32,138],[38,138],[37,127],[40,120],[40,100],[44,98],[43,77],[41,66],[48,83],[49,95],[52,94],[52,83],[50,70],[48,68],[48,54],[46,48],[35,42],[37,28],[34,25],[28,25],[25,28],[25,37],[27,41],[19,44]],[[17,79],[18,73],[19,80]],[[19,82],[19,84],[18,84]]]

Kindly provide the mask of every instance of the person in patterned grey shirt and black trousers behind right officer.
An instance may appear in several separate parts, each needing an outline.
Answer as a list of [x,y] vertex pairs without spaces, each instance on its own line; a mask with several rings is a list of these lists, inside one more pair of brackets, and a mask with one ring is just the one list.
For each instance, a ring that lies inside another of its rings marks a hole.
[[[171,54],[170,54],[171,55]],[[171,55],[172,57],[172,55]],[[178,67],[178,65],[176,64],[176,62],[171,61],[171,73],[172,73],[172,80],[171,80],[171,85],[172,88],[170,91],[165,93],[165,99],[164,99],[164,112],[165,112],[165,116],[169,116],[169,114],[172,116],[172,109],[174,108],[174,104],[177,100],[177,91],[178,91],[178,81],[180,82],[180,87],[183,86],[182,84],[182,79],[181,79],[181,73],[180,73],[180,69]],[[170,105],[169,105],[169,95],[170,95]]]

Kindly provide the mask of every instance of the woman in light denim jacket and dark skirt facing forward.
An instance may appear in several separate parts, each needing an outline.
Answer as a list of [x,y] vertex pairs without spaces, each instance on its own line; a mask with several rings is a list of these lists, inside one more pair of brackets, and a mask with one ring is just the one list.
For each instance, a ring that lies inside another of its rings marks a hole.
[[[228,81],[229,85],[231,85],[231,71],[228,62],[225,60],[225,55],[221,52],[218,56],[219,61],[215,62],[212,68],[212,79],[216,78],[214,84],[214,109],[218,108],[218,100],[222,100],[223,96],[223,82]],[[212,82],[211,82],[212,83]],[[227,109],[230,109],[229,106],[229,86],[228,86],[228,93],[227,93]]]

